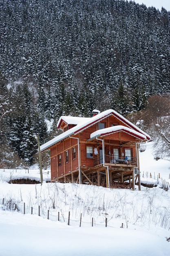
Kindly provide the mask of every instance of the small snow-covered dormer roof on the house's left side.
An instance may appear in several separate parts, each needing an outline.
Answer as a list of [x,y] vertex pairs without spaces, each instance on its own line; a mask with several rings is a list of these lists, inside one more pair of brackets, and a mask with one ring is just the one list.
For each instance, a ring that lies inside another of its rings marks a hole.
[[71,116],[61,116],[57,122],[57,128],[60,128],[62,122],[64,121],[66,124],[79,124],[84,123],[85,121],[90,121],[90,117],[71,117]]

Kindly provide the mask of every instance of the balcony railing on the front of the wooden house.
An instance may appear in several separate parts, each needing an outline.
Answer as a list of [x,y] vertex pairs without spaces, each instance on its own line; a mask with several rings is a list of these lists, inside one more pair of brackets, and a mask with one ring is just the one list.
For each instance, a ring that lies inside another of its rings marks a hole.
[[[113,155],[105,155],[105,161],[106,164],[131,164],[131,165],[137,165],[137,158],[136,157],[127,157],[128,159],[125,159],[125,157],[118,157],[115,158]],[[94,158],[94,165],[102,164],[103,163],[103,157],[99,156]]]

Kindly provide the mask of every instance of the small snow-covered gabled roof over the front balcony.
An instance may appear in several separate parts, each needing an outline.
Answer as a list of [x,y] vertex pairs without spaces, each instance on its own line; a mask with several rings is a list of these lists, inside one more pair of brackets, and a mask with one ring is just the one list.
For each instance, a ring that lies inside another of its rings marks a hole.
[[109,134],[113,134],[115,132],[126,132],[134,137],[137,137],[139,139],[146,139],[146,136],[140,132],[137,132],[135,130],[132,130],[126,126],[122,126],[122,125],[117,125],[117,126],[111,126],[111,127],[108,127],[108,128],[104,128],[104,129],[101,129],[101,130],[97,130],[93,133],[91,133],[90,137],[91,139],[92,138],[95,138],[95,137],[103,137],[103,136],[106,136],[106,135],[109,135]]

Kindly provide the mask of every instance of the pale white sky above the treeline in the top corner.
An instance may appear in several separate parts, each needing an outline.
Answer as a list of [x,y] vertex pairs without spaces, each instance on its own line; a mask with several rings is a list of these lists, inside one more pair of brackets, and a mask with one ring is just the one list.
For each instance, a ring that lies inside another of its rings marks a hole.
[[156,9],[161,10],[164,7],[167,11],[170,11],[170,0],[135,0],[138,4],[145,4],[147,7],[154,6]]

